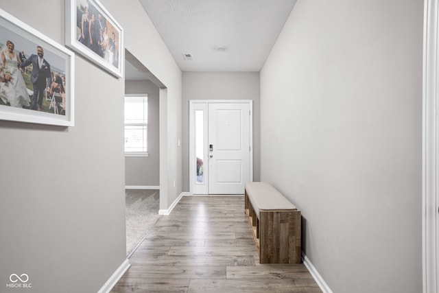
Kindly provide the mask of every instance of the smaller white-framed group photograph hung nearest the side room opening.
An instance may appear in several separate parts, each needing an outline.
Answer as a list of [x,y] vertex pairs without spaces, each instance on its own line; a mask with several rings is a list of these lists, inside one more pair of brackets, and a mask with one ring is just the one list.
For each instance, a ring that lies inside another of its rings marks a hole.
[[66,45],[123,77],[123,30],[97,0],[66,1]]

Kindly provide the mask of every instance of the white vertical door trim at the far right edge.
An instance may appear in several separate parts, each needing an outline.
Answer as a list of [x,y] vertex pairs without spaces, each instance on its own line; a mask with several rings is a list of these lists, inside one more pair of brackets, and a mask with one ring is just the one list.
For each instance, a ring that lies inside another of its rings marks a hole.
[[438,292],[438,0],[424,2],[423,292]]

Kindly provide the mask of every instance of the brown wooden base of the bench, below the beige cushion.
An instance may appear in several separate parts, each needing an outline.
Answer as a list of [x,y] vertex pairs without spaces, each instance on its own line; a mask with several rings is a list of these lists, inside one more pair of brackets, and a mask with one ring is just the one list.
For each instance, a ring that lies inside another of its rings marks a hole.
[[245,195],[245,213],[252,226],[259,263],[301,263],[300,211],[259,211]]

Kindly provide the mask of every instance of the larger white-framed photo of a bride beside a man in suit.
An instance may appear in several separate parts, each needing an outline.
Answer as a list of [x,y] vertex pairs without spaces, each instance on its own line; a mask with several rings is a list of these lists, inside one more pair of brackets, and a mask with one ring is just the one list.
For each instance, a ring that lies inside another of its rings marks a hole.
[[74,54],[0,9],[0,119],[74,126]]

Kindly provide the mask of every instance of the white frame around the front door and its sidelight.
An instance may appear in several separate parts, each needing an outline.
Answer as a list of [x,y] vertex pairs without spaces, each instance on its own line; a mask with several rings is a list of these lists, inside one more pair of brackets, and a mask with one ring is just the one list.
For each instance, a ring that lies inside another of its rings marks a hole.
[[[205,145],[207,145],[208,140],[207,140],[207,129],[208,129],[208,124],[207,124],[207,105],[211,104],[211,103],[224,103],[224,104],[233,104],[233,103],[248,103],[250,104],[250,181],[253,180],[253,101],[251,99],[190,99],[189,100],[189,193],[191,195],[195,194],[200,194],[200,190],[204,190],[203,188],[205,187],[206,192],[204,194],[209,194],[208,191],[208,182],[207,182],[207,178],[208,178],[208,174],[205,174],[204,176],[204,180],[205,180],[205,185],[198,185],[195,186],[195,133],[194,133],[194,124],[195,124],[195,119],[194,119],[194,111],[195,110],[202,110],[205,109],[204,112],[204,138],[205,138]],[[202,106],[204,105],[204,106]],[[207,152],[205,153],[205,158],[204,158],[204,162],[207,164]],[[207,172],[209,172],[207,170]],[[195,190],[194,190],[195,189]]]

